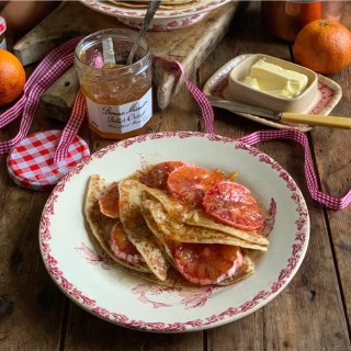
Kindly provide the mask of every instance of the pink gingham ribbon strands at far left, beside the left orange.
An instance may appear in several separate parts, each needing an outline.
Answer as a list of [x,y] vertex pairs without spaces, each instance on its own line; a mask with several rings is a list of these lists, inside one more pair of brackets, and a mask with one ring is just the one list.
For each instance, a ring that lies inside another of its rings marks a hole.
[[[22,140],[27,135],[39,104],[39,97],[69,66],[72,65],[75,47],[80,39],[80,37],[76,37],[52,50],[38,64],[26,81],[22,98],[12,107],[0,115],[0,128],[22,115],[20,129],[16,136],[10,140],[0,141],[0,154],[8,152],[18,141]],[[80,117],[82,117],[82,115],[80,115]],[[59,157],[60,156],[58,156],[58,159]]]

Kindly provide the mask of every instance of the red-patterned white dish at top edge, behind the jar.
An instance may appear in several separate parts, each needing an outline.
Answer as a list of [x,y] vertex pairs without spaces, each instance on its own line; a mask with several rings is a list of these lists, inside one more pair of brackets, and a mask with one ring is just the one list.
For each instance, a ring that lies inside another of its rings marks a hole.
[[[140,29],[146,9],[133,9],[117,5],[109,1],[80,0],[92,10],[115,16],[120,22]],[[225,5],[233,0],[202,0],[186,8],[158,10],[148,31],[163,32],[193,25],[203,20],[212,10]]]

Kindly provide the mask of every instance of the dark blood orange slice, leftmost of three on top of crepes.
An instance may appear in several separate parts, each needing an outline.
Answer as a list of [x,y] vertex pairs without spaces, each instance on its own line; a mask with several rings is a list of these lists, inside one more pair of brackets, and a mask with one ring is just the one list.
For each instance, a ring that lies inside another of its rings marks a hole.
[[160,162],[147,172],[143,173],[139,181],[150,188],[157,188],[160,190],[167,189],[168,176],[177,168],[184,166],[182,161],[167,161]]

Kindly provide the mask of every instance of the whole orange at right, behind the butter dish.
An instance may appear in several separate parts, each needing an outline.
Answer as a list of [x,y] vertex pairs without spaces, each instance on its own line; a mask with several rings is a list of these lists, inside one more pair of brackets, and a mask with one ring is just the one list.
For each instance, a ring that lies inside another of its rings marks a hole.
[[336,21],[315,20],[298,32],[294,57],[316,72],[335,73],[351,63],[351,32]]

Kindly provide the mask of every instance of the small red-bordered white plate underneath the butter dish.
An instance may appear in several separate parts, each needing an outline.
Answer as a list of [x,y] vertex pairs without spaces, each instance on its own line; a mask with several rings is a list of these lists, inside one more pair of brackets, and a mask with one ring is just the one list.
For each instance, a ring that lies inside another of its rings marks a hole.
[[[236,66],[238,66],[245,58],[250,56],[250,54],[244,54],[239,55],[231,60],[229,60],[227,64],[225,64],[223,67],[220,67],[205,83],[203,88],[203,92],[206,95],[213,95],[213,97],[219,97],[225,98],[224,93],[228,86],[228,76],[231,71],[231,69]],[[316,97],[315,105],[304,113],[312,113],[312,114],[321,114],[321,115],[328,115],[332,109],[338,104],[342,97],[342,89],[341,87],[333,80],[317,75],[318,77],[318,97]],[[229,110],[229,109],[228,109]],[[229,110],[230,111],[230,110]],[[260,124],[279,128],[279,129],[298,129],[301,132],[308,132],[313,127],[309,125],[303,125],[303,124],[296,124],[296,123],[279,123],[274,122],[272,120],[267,120],[263,117],[259,117],[252,114],[248,113],[237,113],[237,115],[240,115],[245,118],[258,122]]]

